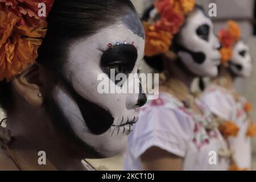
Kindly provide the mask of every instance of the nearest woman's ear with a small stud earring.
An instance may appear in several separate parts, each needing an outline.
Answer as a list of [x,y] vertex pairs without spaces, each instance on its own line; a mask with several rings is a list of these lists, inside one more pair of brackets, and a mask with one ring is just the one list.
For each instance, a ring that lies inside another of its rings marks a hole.
[[16,91],[32,106],[43,104],[40,92],[39,66],[37,64],[28,67],[25,71],[12,79]]

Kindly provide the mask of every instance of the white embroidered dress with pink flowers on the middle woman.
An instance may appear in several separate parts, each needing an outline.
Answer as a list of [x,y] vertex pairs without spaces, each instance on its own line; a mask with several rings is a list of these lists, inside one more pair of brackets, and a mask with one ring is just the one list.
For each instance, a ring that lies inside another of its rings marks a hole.
[[[205,130],[212,115],[204,110],[203,117],[193,114],[182,102],[163,92],[158,100],[148,101],[128,139],[125,169],[142,170],[140,157],[153,146],[184,158],[183,170],[228,169],[229,159],[218,156],[219,150],[227,150],[226,143],[217,129]],[[209,164],[210,151],[217,154],[216,164]]]

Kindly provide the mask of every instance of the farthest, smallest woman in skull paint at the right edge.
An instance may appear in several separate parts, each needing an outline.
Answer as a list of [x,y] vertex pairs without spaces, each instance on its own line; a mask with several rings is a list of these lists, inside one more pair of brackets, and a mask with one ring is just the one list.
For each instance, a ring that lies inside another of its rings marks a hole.
[[237,77],[250,76],[253,63],[240,34],[240,27],[232,20],[220,31],[220,73],[201,97],[219,118],[217,125],[233,152],[230,170],[251,168],[250,137],[254,137],[256,129],[250,118],[251,105],[234,89]]

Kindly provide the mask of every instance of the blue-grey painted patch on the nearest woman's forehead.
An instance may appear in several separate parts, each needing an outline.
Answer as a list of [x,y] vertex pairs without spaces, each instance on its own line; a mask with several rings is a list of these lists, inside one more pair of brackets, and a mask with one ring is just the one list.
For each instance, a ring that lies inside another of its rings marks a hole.
[[141,20],[136,13],[134,13],[133,11],[127,13],[125,16],[123,16],[122,22],[134,34],[145,39],[144,28],[142,26]]

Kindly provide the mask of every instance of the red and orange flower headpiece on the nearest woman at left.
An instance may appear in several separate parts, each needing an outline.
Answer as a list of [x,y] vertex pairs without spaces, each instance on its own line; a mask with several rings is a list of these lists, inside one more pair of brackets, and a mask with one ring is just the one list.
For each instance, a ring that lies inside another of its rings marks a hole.
[[[45,5],[45,16],[39,16],[39,3]],[[35,63],[53,3],[54,0],[0,0],[0,81],[10,81]]]

